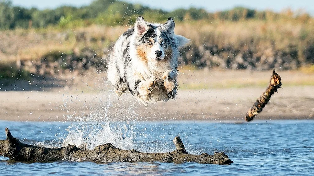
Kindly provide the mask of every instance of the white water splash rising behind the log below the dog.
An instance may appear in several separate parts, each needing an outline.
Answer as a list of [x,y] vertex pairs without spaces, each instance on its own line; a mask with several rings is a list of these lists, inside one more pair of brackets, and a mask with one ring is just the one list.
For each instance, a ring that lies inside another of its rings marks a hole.
[[102,109],[105,111],[105,122],[90,121],[95,120],[95,116],[102,116],[103,113],[101,112],[84,117],[83,122],[80,121],[80,123],[68,127],[69,134],[64,139],[62,146],[75,145],[79,148],[93,150],[96,146],[109,142],[121,149],[134,148],[134,125],[127,122],[112,122],[108,119],[108,109],[111,106],[110,97],[111,94],[108,96],[106,107]]

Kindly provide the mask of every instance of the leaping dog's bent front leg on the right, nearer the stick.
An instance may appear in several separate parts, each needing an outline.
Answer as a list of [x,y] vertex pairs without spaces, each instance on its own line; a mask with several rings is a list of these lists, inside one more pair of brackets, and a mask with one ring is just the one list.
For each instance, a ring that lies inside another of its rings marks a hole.
[[172,69],[167,70],[163,74],[162,79],[164,80],[164,87],[167,91],[167,97],[174,98],[176,95],[176,73],[174,73]]

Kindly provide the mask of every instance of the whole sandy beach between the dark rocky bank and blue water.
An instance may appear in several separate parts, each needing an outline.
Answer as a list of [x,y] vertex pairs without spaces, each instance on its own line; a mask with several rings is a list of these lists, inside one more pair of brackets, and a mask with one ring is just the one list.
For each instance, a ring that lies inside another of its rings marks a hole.
[[[313,75],[300,72],[279,74],[283,88],[273,95],[255,120],[313,119]],[[97,83],[102,84],[100,89],[89,86],[89,90],[80,86],[86,84],[82,80],[70,88],[48,91],[1,91],[0,119],[103,121],[108,109],[107,118],[114,121],[244,121],[246,111],[265,90],[269,76],[270,72],[214,71],[204,74],[204,71],[185,71],[179,77],[183,86],[176,100],[148,106],[139,105],[130,93],[116,97],[106,83]],[[91,80],[86,78],[85,82]],[[302,83],[297,85],[298,82]]]

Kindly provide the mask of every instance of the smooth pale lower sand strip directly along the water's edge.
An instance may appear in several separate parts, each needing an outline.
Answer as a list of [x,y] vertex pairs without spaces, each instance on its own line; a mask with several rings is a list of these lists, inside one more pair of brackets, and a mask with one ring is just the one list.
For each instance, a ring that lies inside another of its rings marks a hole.
[[[314,86],[285,87],[255,120],[314,119]],[[264,88],[179,90],[176,100],[139,105],[111,91],[1,92],[0,120],[11,121],[239,121]],[[110,104],[108,106],[108,104]],[[108,106],[108,107],[106,107]]]

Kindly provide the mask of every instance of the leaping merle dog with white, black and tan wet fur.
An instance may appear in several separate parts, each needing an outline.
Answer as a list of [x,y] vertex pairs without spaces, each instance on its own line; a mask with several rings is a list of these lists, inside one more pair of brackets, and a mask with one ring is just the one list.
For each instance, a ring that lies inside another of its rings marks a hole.
[[189,39],[174,34],[175,22],[149,23],[138,17],[116,41],[107,78],[118,97],[128,90],[139,103],[168,101],[177,94],[179,48]]

